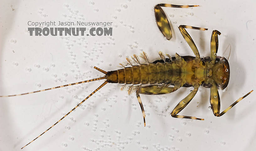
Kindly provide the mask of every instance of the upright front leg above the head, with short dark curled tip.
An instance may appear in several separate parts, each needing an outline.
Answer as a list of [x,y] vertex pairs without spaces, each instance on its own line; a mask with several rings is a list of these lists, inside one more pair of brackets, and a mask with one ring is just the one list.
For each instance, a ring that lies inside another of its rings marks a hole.
[[211,56],[210,56],[212,66],[215,64],[218,47],[219,47],[218,35],[221,35],[221,33],[219,31],[217,31],[217,30],[212,31],[212,34],[211,34]]

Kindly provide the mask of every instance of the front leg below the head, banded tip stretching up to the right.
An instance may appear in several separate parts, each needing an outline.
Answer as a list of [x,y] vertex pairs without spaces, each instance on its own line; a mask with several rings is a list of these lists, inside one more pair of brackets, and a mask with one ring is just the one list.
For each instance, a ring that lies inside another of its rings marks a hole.
[[213,114],[217,117],[222,116],[228,110],[230,110],[233,106],[235,106],[239,101],[241,101],[243,98],[247,97],[252,92],[253,92],[253,90],[250,91],[249,93],[247,93],[246,95],[244,95],[243,97],[239,98],[236,102],[231,104],[228,108],[226,108],[224,111],[222,111],[220,113],[220,108],[221,108],[220,96],[219,96],[219,92],[216,87],[216,84],[213,83],[211,86],[211,95],[210,95],[210,103],[211,103],[211,108],[212,108]]

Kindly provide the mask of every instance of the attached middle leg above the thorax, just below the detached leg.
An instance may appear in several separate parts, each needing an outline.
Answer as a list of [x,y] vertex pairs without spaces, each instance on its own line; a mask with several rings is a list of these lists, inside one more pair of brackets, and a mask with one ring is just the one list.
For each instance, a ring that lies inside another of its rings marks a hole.
[[192,26],[186,26],[186,25],[180,25],[179,31],[186,40],[186,42],[189,44],[189,47],[192,49],[193,53],[195,54],[195,60],[197,62],[200,62],[200,54],[198,52],[198,49],[195,46],[195,43],[193,39],[190,37],[189,33],[186,31],[185,28],[189,29],[197,29],[197,30],[208,30],[207,28],[199,28],[199,27],[192,27]]

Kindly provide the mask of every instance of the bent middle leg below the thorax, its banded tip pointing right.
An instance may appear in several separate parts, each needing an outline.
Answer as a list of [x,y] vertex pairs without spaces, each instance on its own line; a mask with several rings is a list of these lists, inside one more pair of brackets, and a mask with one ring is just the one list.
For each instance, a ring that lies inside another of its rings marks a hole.
[[183,110],[189,104],[189,102],[192,100],[192,98],[194,98],[198,88],[199,88],[199,85],[198,84],[195,85],[194,86],[194,90],[191,91],[189,93],[189,95],[186,96],[183,100],[181,100],[179,102],[179,104],[173,109],[173,111],[171,112],[171,116],[173,118],[190,118],[190,119],[204,120],[203,118],[196,118],[196,117],[192,117],[192,116],[177,115],[181,110]]

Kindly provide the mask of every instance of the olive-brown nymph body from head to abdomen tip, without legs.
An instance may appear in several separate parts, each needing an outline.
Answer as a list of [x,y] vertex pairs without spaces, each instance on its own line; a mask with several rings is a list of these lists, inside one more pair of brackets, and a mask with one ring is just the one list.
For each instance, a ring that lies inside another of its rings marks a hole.
[[[209,57],[201,58],[199,63],[196,63],[195,57],[192,56],[181,56],[181,60],[175,57],[172,57],[172,60],[166,58],[165,61],[160,59],[153,63],[133,65],[131,67],[109,71],[106,77],[109,83],[170,83],[175,85],[175,83],[178,82],[183,87],[192,87],[195,83],[199,83],[206,88],[211,87],[206,81],[212,78],[220,86],[219,88],[224,89],[224,85],[226,88],[229,79],[229,65],[227,59],[217,57],[216,64],[211,68],[209,68],[208,65],[209,59]],[[226,60],[226,62],[223,62],[223,59]],[[225,69],[228,70],[227,75],[223,74]]]

